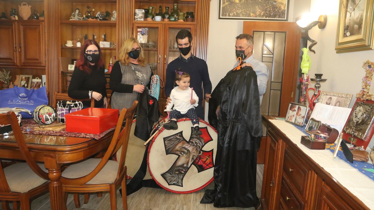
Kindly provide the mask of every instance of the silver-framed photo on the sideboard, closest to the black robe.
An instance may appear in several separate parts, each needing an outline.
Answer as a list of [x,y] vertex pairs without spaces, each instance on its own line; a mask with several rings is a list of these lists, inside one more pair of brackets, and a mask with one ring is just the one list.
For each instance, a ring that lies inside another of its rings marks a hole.
[[308,109],[308,106],[304,104],[297,104],[294,102],[289,103],[285,121],[296,126],[303,127]]

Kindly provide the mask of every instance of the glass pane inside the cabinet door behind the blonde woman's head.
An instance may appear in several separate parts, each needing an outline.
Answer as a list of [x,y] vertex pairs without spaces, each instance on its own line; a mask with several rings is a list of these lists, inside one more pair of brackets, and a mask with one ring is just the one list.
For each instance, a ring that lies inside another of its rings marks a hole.
[[159,28],[158,27],[137,27],[137,38],[144,49],[145,60],[148,61],[153,74],[157,74],[157,56],[158,54],[158,40]]

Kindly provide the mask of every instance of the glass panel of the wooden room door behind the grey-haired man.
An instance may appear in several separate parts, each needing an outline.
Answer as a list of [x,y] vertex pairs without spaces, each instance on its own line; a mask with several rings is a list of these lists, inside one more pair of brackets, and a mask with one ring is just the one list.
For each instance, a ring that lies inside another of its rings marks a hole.
[[[253,39],[254,58],[263,62],[269,69],[269,80],[262,99],[261,114],[278,116],[281,104],[286,33],[254,31]],[[264,136],[266,133],[267,126],[263,122]]]

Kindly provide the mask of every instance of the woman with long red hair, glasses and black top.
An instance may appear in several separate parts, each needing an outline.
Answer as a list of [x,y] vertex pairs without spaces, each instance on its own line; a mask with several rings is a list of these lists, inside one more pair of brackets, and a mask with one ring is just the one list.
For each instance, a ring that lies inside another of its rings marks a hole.
[[[100,47],[95,40],[86,40],[75,64],[68,95],[74,99],[93,98],[96,100],[95,107],[107,108],[106,84]],[[83,101],[85,108],[90,107],[90,104],[89,101]]]

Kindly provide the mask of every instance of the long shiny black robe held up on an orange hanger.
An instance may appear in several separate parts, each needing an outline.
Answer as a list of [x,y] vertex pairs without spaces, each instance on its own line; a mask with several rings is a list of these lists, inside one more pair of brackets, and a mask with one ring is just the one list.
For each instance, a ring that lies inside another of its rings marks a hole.
[[[214,190],[200,203],[215,207],[256,207],[257,149],[262,123],[257,75],[252,67],[230,71],[209,99],[209,123],[218,131]],[[220,105],[217,118],[216,109]]]

